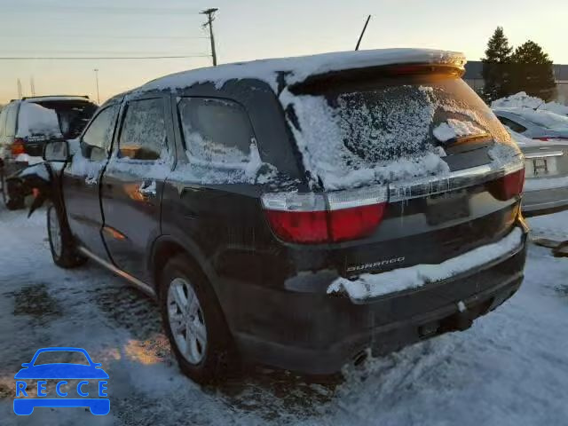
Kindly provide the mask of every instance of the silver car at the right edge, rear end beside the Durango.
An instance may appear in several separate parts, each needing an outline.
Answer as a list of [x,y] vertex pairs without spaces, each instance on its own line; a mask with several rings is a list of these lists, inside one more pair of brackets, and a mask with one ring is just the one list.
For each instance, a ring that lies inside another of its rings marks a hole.
[[568,142],[550,139],[543,143],[508,130],[525,154],[525,216],[568,209]]

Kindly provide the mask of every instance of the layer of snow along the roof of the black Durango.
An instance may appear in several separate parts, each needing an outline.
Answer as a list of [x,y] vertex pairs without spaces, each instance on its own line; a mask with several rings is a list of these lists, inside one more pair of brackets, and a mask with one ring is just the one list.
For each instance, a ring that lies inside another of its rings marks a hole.
[[197,83],[215,83],[220,89],[233,79],[254,78],[278,90],[278,75],[286,73],[286,83],[300,83],[311,75],[321,75],[345,69],[380,67],[397,64],[443,64],[464,67],[463,53],[432,49],[377,49],[371,51],[339,51],[310,56],[280,59],[259,59],[205,67],[167,75],[144,84],[135,91],[174,90]]

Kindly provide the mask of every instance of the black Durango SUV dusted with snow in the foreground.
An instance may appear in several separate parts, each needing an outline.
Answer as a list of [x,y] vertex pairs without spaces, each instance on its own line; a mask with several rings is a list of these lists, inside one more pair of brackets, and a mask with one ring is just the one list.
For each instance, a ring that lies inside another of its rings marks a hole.
[[464,63],[270,59],[116,96],[46,146],[65,162],[53,259],[91,258],[155,297],[201,383],[235,359],[329,374],[465,329],[519,288],[526,226],[522,155]]

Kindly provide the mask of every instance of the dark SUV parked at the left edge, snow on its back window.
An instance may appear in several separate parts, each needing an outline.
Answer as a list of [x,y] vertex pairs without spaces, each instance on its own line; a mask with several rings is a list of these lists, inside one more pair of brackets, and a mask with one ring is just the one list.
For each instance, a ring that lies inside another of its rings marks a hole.
[[0,187],[8,209],[21,209],[27,186],[13,177],[42,162],[52,138],[76,138],[97,109],[88,97],[39,96],[12,100],[0,113]]

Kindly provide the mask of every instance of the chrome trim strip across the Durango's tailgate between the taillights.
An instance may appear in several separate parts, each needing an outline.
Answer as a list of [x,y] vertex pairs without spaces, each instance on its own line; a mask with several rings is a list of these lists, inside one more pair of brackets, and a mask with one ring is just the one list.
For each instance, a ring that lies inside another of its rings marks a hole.
[[389,185],[389,202],[407,201],[437,193],[446,193],[472,185],[485,184],[499,177],[525,169],[525,162],[520,160],[495,167],[492,164],[457,170],[445,176],[422,177],[396,182]]

